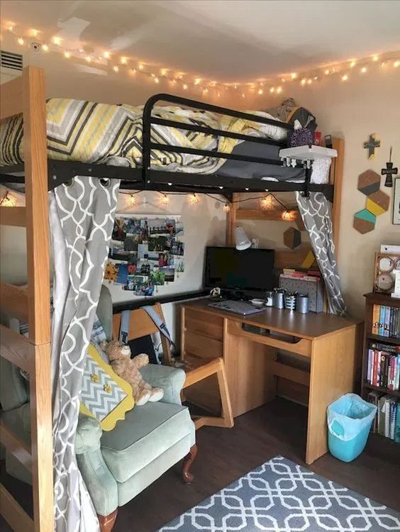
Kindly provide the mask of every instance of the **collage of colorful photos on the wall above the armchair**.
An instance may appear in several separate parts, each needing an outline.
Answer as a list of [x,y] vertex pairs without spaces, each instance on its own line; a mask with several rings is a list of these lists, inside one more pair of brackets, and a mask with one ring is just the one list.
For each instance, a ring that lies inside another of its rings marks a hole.
[[183,237],[180,216],[117,214],[104,280],[121,284],[135,296],[152,296],[184,272]]

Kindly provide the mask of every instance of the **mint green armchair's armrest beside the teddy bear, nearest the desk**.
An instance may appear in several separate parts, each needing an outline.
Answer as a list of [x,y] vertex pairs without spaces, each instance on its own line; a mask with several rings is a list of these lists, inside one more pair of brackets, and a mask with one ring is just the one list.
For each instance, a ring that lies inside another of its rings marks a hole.
[[181,390],[186,378],[184,370],[177,367],[148,364],[140,370],[145,382],[164,390],[164,403],[182,404]]

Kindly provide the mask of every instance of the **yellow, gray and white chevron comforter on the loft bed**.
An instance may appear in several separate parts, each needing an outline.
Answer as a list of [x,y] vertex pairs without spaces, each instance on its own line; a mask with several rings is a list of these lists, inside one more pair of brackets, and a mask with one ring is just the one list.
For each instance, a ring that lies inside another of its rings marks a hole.
[[[251,111],[272,118],[263,111]],[[265,136],[274,140],[286,138],[277,126],[229,118],[179,107],[157,106],[153,116],[198,124],[212,128]],[[52,98],[47,102],[48,157],[94,164],[140,167],[142,164],[143,106],[94,104],[89,101]],[[240,140],[234,140],[165,126],[152,126],[152,141],[185,148],[231,153]],[[22,116],[13,116],[0,124],[0,165],[23,162]],[[153,168],[193,173],[216,172],[224,160],[202,155],[152,151]]]

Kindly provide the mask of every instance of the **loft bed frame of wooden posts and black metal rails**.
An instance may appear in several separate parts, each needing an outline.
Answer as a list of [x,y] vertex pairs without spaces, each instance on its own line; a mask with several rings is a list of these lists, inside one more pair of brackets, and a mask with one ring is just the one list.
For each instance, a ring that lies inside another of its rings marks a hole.
[[[121,189],[157,190],[160,192],[197,192],[222,194],[232,201],[240,192],[294,192],[304,195],[309,192],[322,192],[329,201],[333,201],[333,223],[335,238],[338,236],[340,214],[341,178],[343,170],[343,141],[334,140],[333,148],[338,150],[338,158],[330,170],[329,182],[316,184],[311,182],[310,165],[296,165],[304,176],[292,181],[265,181],[238,175],[225,175],[223,165],[215,172],[184,172],[182,168],[155,170],[152,166],[154,153],[194,155],[209,157],[212,160],[252,163],[284,170],[284,161],[279,156],[259,157],[243,153],[226,153],[213,149],[187,148],[162,144],[152,139],[152,127],[165,126],[198,135],[211,135],[218,139],[241,140],[265,148],[280,149],[286,146],[283,139],[274,140],[255,137],[237,131],[226,131],[199,123],[182,123],[170,118],[154,116],[155,104],[164,101],[202,113],[218,113],[262,126],[272,126],[290,131],[291,124],[258,116],[257,114],[233,111],[190,99],[157,94],[152,96],[143,109],[143,139],[141,153],[143,164],[138,167],[125,167],[79,160],[57,160],[48,157],[48,138],[46,131],[45,72],[35,67],[26,67],[22,76],[3,84],[1,87],[1,121],[23,115],[23,162],[9,162],[1,165],[0,182],[4,184],[24,184],[26,192],[25,207],[0,206],[0,222],[5,226],[26,227],[28,287],[17,287],[0,282],[0,297],[4,314],[28,323],[29,336],[25,338],[10,328],[0,326],[1,357],[26,370],[30,374],[30,416],[31,444],[26,445],[16,433],[1,426],[2,443],[25,467],[32,472],[33,481],[33,518],[21,508],[18,501],[0,487],[1,514],[15,530],[35,530],[50,532],[53,530],[53,482],[52,482],[52,406],[50,383],[50,260],[48,231],[48,191],[70,182],[74,176],[87,176],[99,179],[121,179]],[[10,123],[10,122],[9,122]],[[20,135],[20,136],[21,136]],[[21,140],[21,139],[20,139]],[[3,148],[2,148],[3,151]],[[11,150],[12,151],[12,150]],[[15,152],[15,150],[14,150]],[[14,153],[16,159],[20,154]],[[3,157],[4,158],[4,157]],[[190,169],[189,169],[190,170]],[[288,175],[294,168],[287,168]],[[269,171],[266,172],[268,177]],[[281,176],[282,177],[282,176]],[[237,209],[228,213],[227,242],[232,238],[232,228],[236,222]]]

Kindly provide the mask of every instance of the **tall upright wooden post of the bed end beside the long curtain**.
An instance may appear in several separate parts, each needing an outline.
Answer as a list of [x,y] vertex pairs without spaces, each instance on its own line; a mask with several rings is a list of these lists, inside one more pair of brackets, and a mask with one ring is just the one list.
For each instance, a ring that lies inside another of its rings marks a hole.
[[50,379],[50,260],[45,71],[22,73],[28,327],[32,352],[30,426],[35,532],[54,529]]

